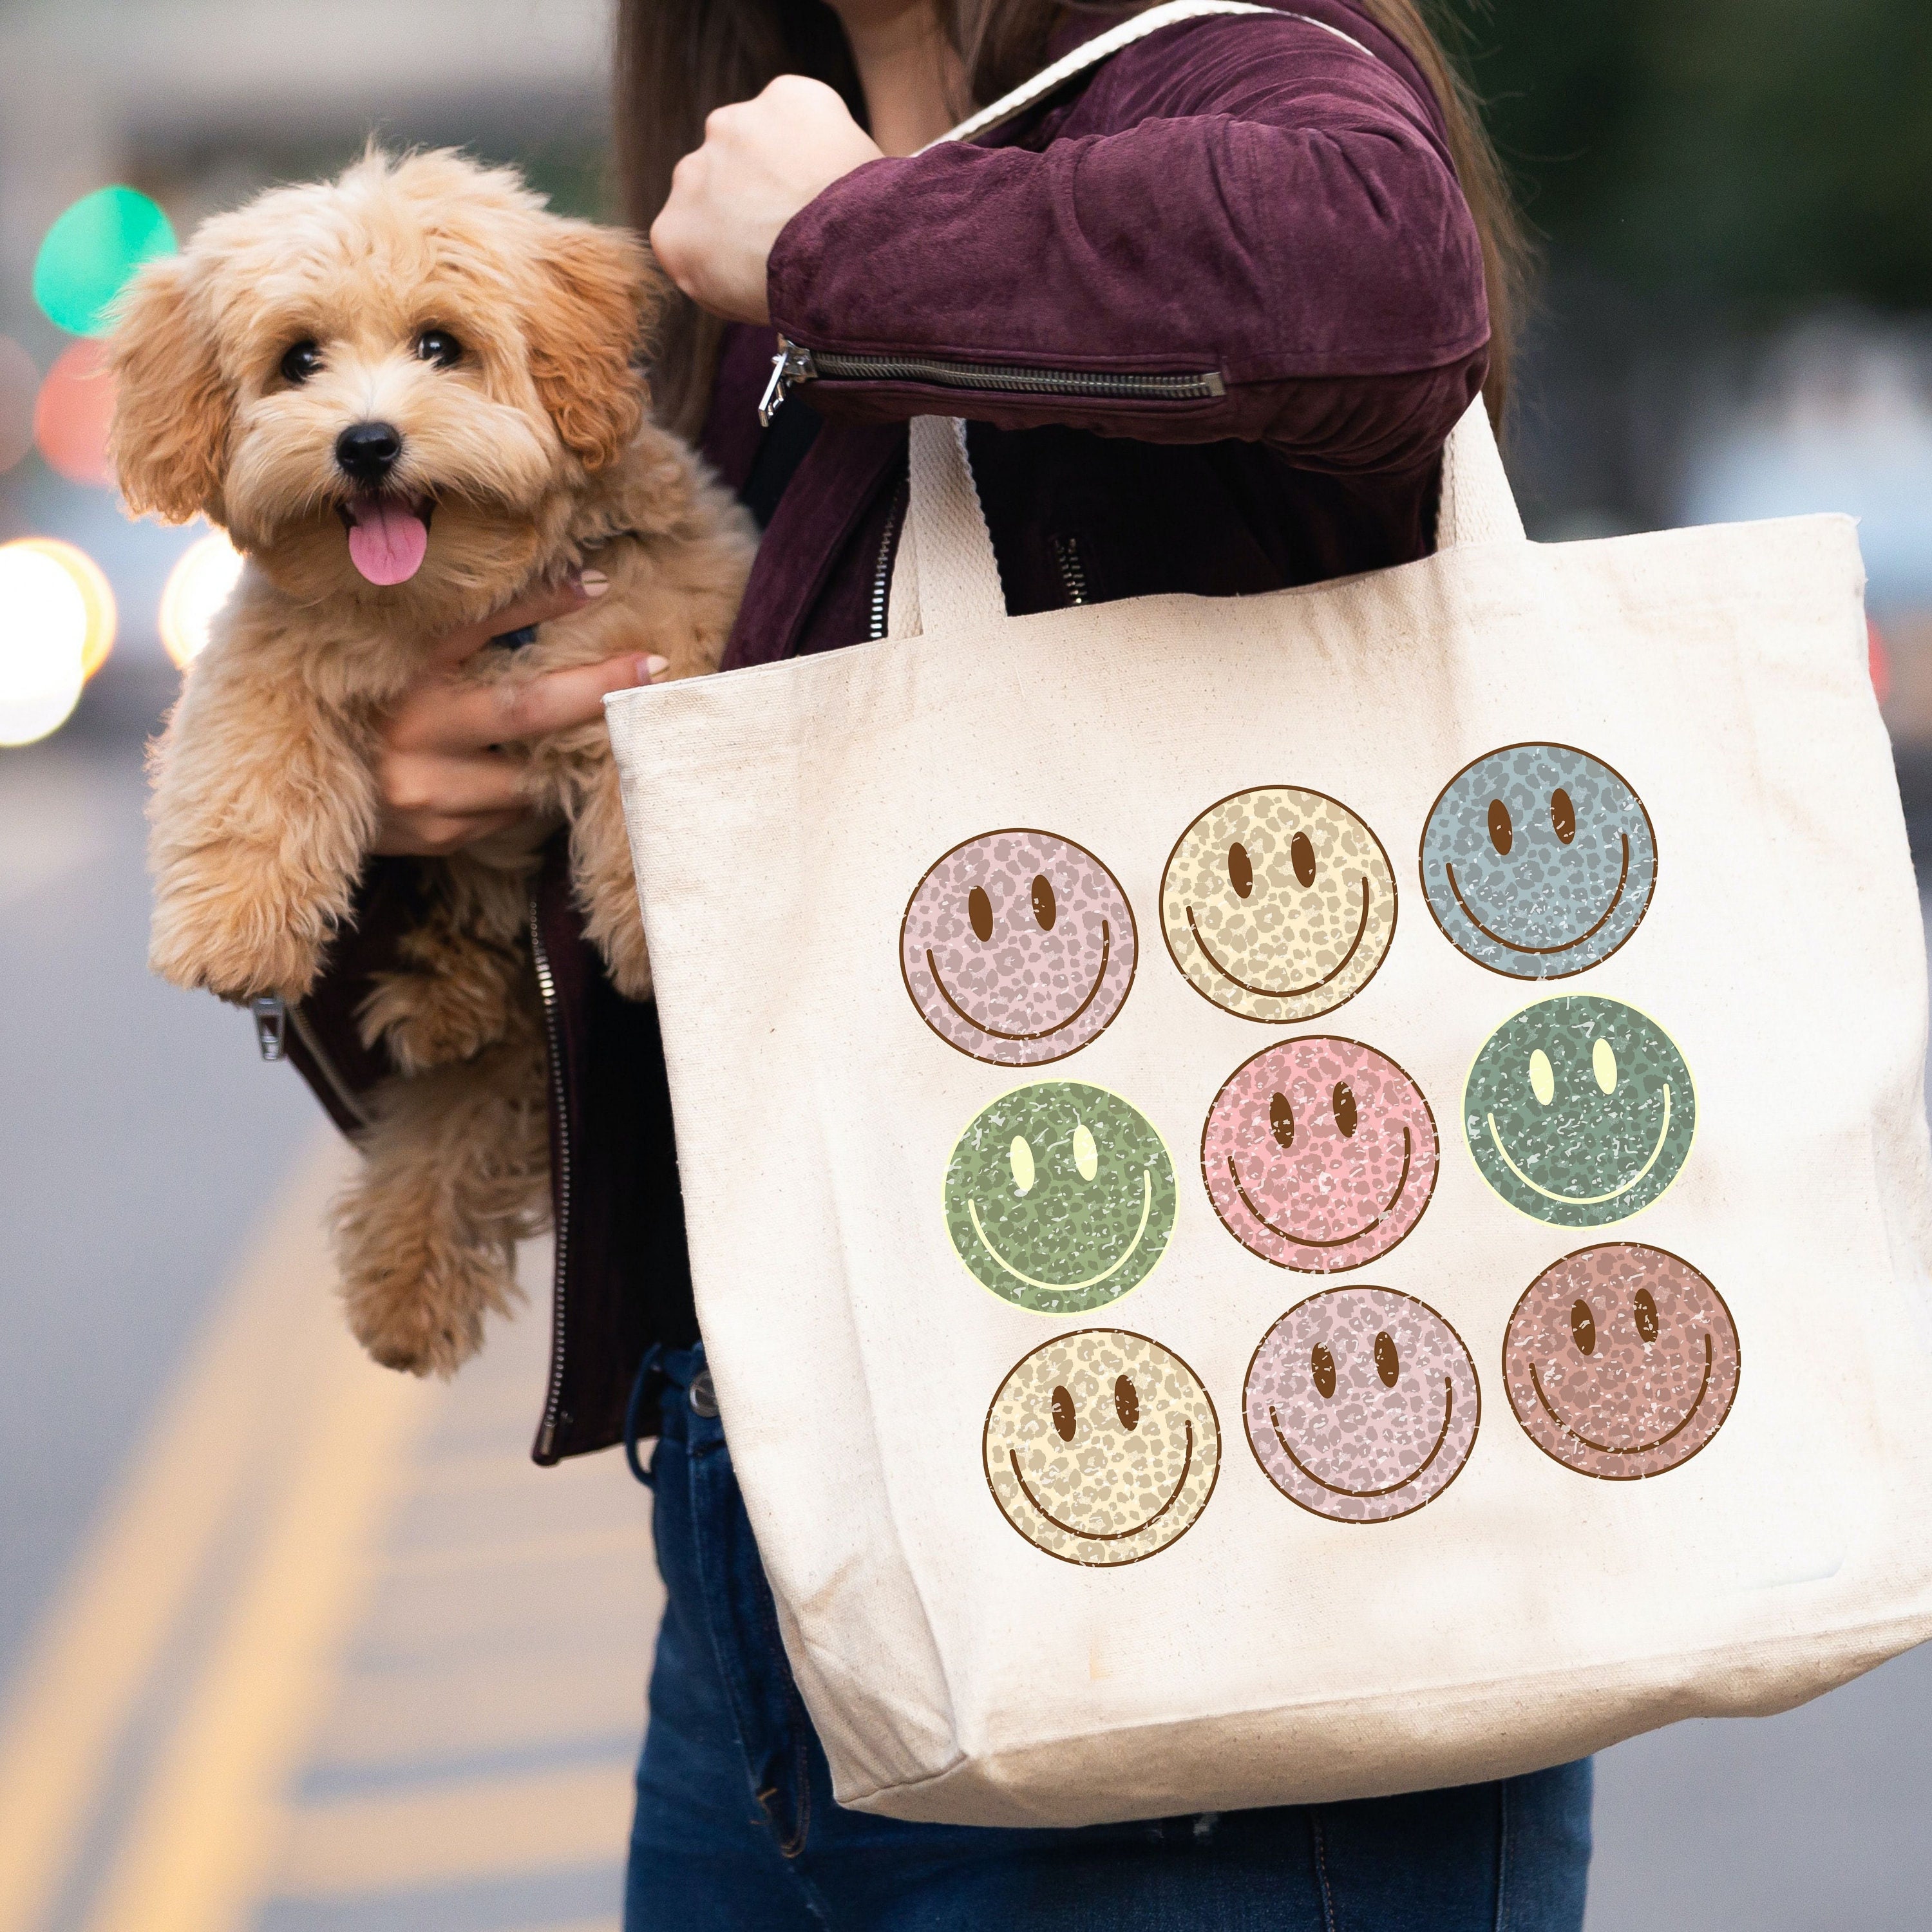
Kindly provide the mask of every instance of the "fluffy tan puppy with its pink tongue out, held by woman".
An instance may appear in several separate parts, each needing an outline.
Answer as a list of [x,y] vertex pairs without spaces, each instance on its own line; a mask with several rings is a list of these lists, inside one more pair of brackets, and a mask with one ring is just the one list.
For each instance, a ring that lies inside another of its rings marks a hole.
[[[141,272],[114,336],[122,491],[247,554],[153,752],[158,974],[234,1001],[311,989],[375,837],[379,723],[439,634],[595,566],[597,603],[466,674],[508,697],[624,651],[717,667],[752,537],[645,413],[659,288],[634,238],[452,153],[369,153]],[[614,985],[651,987],[603,724],[522,750],[535,829],[421,862],[421,922],[361,1014],[404,1072],[340,1204],[344,1298],[369,1352],[415,1374],[475,1350],[547,1217],[527,922],[554,825]]]

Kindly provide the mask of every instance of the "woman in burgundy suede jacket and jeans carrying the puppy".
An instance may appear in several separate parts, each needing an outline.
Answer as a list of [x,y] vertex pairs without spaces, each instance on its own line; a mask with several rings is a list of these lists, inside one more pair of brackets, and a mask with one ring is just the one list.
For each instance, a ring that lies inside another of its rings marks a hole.
[[[659,406],[701,433],[767,526],[728,667],[883,630],[916,413],[974,421],[1014,612],[1275,589],[1430,551],[1443,440],[1486,377],[1501,402],[1513,230],[1493,158],[1410,0],[1298,8],[1167,27],[995,137],[916,155],[970,100],[1132,8],[626,0],[632,213],[690,298],[663,344]],[[761,431],[773,330],[792,352]],[[440,663],[583,595],[500,614],[448,639]],[[628,659],[556,672],[522,728],[593,717],[607,690],[639,676],[649,667]],[[390,858],[373,864],[357,933],[298,1028],[298,1059],[338,1119],[354,1119],[355,1090],[379,1072],[344,1020],[383,954],[383,908],[406,891],[394,858],[516,817],[514,757],[491,750],[502,736],[500,713],[440,672],[390,723]],[[626,1397],[645,1432],[661,1412],[668,1602],[638,1774],[632,1932],[1575,1932],[1586,1764],[1078,1832],[908,1826],[835,1806],[703,1372],[655,1014],[601,983],[556,867],[533,937],[558,1177],[556,1356],[537,1457],[616,1439]]]

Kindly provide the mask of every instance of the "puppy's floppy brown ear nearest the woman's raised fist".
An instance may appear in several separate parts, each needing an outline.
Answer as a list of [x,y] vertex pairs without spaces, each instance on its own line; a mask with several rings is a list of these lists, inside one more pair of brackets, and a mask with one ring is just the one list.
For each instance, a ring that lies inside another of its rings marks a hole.
[[553,222],[526,323],[537,394],[585,469],[614,464],[643,415],[634,365],[663,282],[643,243],[616,228]]

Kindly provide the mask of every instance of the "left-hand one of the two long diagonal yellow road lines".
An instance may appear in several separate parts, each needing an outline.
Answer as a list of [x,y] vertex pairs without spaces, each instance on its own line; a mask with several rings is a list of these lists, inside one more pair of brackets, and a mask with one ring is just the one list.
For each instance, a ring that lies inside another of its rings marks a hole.
[[0,1716],[0,1932],[43,1924],[305,1339],[334,1321],[319,1229],[342,1173],[332,1138],[298,1169],[25,1650]]

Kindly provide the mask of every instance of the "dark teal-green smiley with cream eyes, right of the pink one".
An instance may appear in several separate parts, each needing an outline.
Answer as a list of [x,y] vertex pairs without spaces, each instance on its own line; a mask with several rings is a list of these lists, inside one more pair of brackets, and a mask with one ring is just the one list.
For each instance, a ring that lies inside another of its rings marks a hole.
[[1648,1208],[1696,1134],[1696,1090],[1648,1014],[1584,993],[1538,1001],[1486,1041],[1463,1090],[1482,1179],[1551,1227]]

